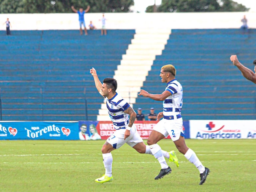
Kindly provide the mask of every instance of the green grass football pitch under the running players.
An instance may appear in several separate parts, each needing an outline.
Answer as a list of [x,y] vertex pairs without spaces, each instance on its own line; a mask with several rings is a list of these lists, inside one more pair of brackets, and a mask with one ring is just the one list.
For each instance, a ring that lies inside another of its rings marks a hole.
[[[154,180],[161,167],[152,155],[128,145],[112,151],[113,182],[96,183],[105,173],[105,141],[0,141],[1,192],[220,192],[256,191],[256,140],[186,140],[210,174],[203,185],[196,167],[177,150],[180,167]],[[146,143],[146,141],[145,141]],[[171,140],[162,149],[175,148]]]

